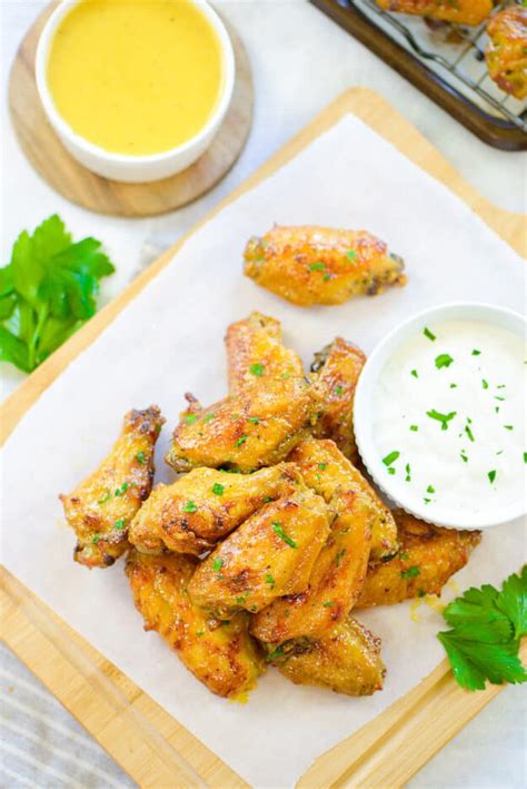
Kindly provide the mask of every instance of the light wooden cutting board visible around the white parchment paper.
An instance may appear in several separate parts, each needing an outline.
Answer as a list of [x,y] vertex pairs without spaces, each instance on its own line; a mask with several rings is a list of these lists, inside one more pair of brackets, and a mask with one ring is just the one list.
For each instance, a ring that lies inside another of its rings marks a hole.
[[[342,93],[188,235],[282,167],[346,112],[358,116],[445,184],[511,247],[525,254],[523,217],[496,208],[480,197],[380,96],[362,88]],[[0,420],[2,443],[68,364],[171,260],[185,238],[47,359],[7,401]],[[2,571],[1,581],[3,633],[9,647],[141,787],[247,786],[10,573]],[[524,659],[526,653],[524,649]],[[451,679],[445,660],[382,714],[319,757],[298,786],[316,789],[332,785],[402,786],[500,690],[496,686],[476,693],[461,690]]]

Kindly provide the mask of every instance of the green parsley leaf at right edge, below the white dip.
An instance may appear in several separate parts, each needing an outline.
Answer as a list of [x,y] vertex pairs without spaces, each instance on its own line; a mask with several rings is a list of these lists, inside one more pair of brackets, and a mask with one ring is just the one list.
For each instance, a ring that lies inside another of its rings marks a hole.
[[510,575],[498,592],[485,584],[456,598],[443,612],[451,630],[437,634],[450,661],[454,678],[467,690],[493,684],[527,682],[518,657],[527,634],[527,565]]

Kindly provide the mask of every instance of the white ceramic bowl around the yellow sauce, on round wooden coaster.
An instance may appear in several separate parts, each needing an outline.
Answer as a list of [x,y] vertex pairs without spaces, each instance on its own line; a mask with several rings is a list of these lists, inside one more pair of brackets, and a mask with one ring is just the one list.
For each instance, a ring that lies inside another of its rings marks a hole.
[[59,115],[47,81],[47,66],[50,47],[58,24],[80,0],[62,0],[50,16],[40,34],[36,75],[40,100],[48,119],[71,156],[92,172],[105,178],[129,183],[148,183],[168,178],[185,170],[198,159],[211,144],[229,108],[235,87],[235,55],[229,34],[206,0],[191,0],[213,27],[221,47],[223,60],[223,86],[217,107],[203,128],[187,142],[162,154],[149,156],[127,156],[112,154],[89,142],[78,135]]

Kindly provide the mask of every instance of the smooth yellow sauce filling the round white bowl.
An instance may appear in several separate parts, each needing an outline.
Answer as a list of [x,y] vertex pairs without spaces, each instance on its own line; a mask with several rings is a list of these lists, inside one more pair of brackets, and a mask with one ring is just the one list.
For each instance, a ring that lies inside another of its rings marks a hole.
[[57,111],[89,142],[161,154],[216,109],[221,45],[190,0],[81,0],[57,28],[47,81]]

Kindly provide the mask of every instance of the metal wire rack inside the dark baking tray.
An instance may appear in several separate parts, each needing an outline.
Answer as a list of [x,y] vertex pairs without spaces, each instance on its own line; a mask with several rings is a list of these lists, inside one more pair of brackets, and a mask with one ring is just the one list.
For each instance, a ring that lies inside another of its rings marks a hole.
[[[527,132],[526,103],[505,93],[488,76],[484,55],[488,20],[477,28],[441,23],[434,29],[421,18],[385,11],[375,0],[346,0],[340,4],[355,6],[385,32],[396,31],[398,42],[425,60],[436,73],[444,78],[449,75],[451,87],[484,111]],[[493,14],[508,4],[499,3]]]

